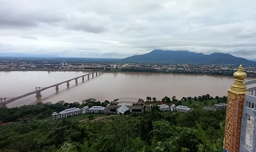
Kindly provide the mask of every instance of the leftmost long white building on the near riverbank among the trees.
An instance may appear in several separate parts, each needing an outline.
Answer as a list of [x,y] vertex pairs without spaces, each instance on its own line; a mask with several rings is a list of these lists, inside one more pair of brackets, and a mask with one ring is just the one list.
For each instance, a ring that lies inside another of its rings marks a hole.
[[70,109],[63,110],[60,113],[53,112],[52,116],[53,116],[53,119],[56,120],[56,119],[67,118],[68,116],[74,116],[78,114],[81,114],[81,109],[70,108]]

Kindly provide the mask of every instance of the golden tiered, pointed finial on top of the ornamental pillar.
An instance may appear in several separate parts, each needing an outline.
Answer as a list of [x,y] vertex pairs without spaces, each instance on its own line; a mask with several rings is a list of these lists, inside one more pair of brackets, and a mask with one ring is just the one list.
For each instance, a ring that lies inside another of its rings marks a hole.
[[247,93],[246,86],[244,84],[244,79],[246,79],[247,74],[244,72],[242,65],[239,66],[237,72],[234,72],[233,77],[236,82],[232,84],[231,90],[238,93]]

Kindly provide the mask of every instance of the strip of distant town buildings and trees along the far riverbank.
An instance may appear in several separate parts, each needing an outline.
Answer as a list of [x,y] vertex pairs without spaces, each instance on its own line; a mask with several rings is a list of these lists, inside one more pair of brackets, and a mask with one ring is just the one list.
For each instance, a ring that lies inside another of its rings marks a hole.
[[[154,52],[154,51],[152,51]],[[166,51],[168,52],[168,51]],[[179,52],[179,51],[177,51]],[[189,52],[191,53],[191,52]],[[227,55],[227,54],[226,54]],[[182,56],[182,54],[180,54]],[[234,56],[233,56],[234,57]],[[127,57],[129,58],[129,57]],[[235,57],[235,59],[238,57]],[[244,59],[246,60],[246,59]],[[200,60],[193,63],[177,61],[172,63],[161,61],[136,62],[125,59],[90,59],[90,58],[63,58],[63,57],[0,57],[0,70],[102,70],[114,72],[156,72],[156,73],[186,73],[186,74],[205,74],[232,76],[237,69],[237,64],[232,61],[226,62],[225,59],[212,61],[214,64],[205,64]],[[248,60],[246,60],[248,61]],[[185,62],[185,63],[184,63]],[[244,72],[248,77],[255,77],[256,63],[244,64]]]

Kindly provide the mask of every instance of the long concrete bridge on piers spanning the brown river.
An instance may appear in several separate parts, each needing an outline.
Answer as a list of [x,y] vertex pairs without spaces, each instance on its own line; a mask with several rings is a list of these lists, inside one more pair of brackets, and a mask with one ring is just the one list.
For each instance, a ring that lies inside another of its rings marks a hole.
[[41,88],[41,87],[36,87],[36,91],[33,91],[33,92],[31,92],[31,93],[26,93],[25,95],[17,96],[17,97],[15,97],[15,98],[11,98],[10,100],[6,100],[6,98],[1,98],[1,100],[0,100],[0,107],[6,107],[6,104],[8,104],[8,103],[14,102],[15,100],[18,100],[18,99],[20,99],[20,98],[24,98],[25,96],[29,96],[29,95],[33,95],[33,94],[36,94],[36,98],[41,98],[41,92],[44,91],[45,89],[49,89],[49,88],[51,88],[51,87],[56,87],[56,91],[58,92],[59,86],[60,86],[61,84],[67,83],[67,87],[69,87],[69,83],[70,83],[70,81],[72,81],[72,80],[75,80],[75,81],[76,81],[76,84],[77,84],[79,78],[82,78],[82,80],[83,80],[83,82],[84,82],[84,77],[87,76],[88,79],[90,79],[90,75],[92,75],[92,77],[94,77],[94,74],[95,74],[96,76],[98,76],[98,74],[100,75],[100,74],[101,74],[102,72],[104,72],[104,71],[105,71],[105,70],[99,70],[99,71],[97,71],[97,72],[88,73],[88,74],[86,74],[86,75],[81,75],[81,76],[75,77],[75,78],[73,78],[73,79],[65,80],[65,81],[63,81],[63,82],[60,82],[60,83],[58,83],[58,84],[53,84],[52,86],[48,86],[48,87],[43,87],[43,88]]

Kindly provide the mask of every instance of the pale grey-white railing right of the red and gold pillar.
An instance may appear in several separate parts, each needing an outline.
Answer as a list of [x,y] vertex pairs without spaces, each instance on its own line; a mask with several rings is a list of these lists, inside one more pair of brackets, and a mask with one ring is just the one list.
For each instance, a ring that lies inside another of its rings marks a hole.
[[[243,115],[241,120],[241,135],[239,152],[256,151],[256,80],[244,82],[250,95],[244,96]],[[250,126],[248,128],[248,122]],[[254,125],[253,125],[254,123]],[[254,126],[254,127],[253,127]]]

